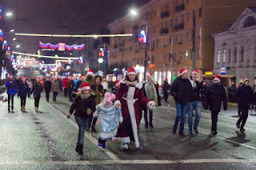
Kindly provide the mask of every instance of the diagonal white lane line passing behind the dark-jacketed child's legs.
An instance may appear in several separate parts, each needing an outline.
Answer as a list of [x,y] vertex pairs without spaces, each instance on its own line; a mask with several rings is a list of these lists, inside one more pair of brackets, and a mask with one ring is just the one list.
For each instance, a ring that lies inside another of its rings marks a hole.
[[[44,100],[46,101],[46,100]],[[50,103],[47,103],[48,105],[50,105],[53,109],[55,109],[57,111],[58,114],[60,114],[64,119],[66,119],[66,121],[69,121],[70,124],[74,125],[74,127],[78,128],[78,124],[75,123],[73,120],[71,119],[67,119],[66,115],[64,113],[62,113],[59,109],[56,109],[54,105],[51,105]],[[85,132],[85,136],[92,141],[96,146],[98,146],[98,140],[96,138],[94,138],[94,136],[92,136],[89,132]],[[100,148],[100,147],[98,147]],[[102,152],[105,152],[108,156],[110,156],[111,159],[113,160],[120,160],[120,158],[115,155],[113,152],[110,152],[110,150],[106,149],[106,148],[100,148],[102,150]]]

